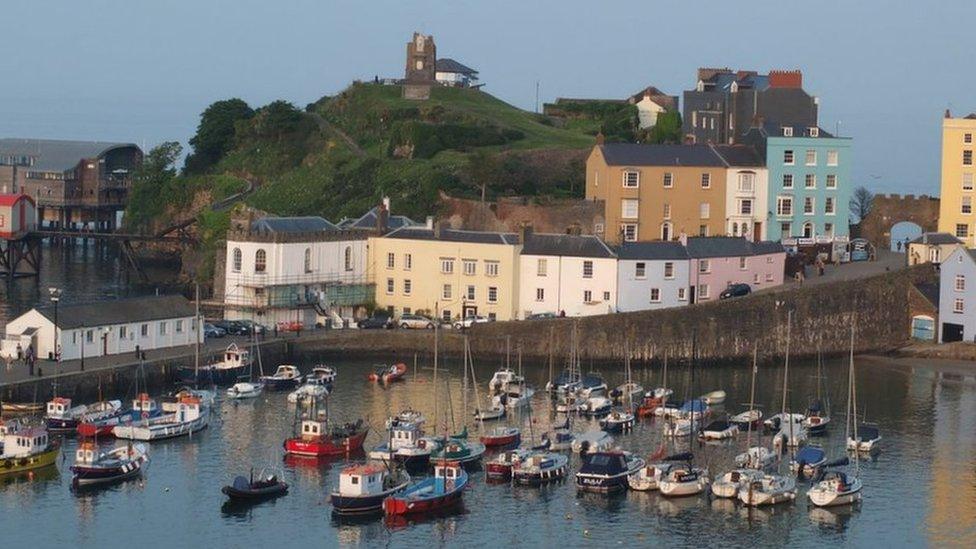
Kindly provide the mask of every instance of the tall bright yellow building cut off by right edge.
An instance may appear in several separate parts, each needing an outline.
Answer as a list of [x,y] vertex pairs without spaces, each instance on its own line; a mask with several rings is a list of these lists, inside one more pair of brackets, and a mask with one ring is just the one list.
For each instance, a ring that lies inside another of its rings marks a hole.
[[955,235],[966,247],[976,246],[973,221],[973,143],[976,113],[942,120],[942,192],[939,203],[939,232]]

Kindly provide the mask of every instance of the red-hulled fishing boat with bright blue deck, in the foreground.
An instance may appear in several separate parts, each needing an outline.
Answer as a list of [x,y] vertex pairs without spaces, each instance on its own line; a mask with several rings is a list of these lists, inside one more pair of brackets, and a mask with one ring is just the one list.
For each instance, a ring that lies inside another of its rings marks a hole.
[[468,485],[468,473],[460,464],[438,461],[434,476],[412,482],[403,491],[383,501],[387,516],[431,513],[453,507],[461,501]]

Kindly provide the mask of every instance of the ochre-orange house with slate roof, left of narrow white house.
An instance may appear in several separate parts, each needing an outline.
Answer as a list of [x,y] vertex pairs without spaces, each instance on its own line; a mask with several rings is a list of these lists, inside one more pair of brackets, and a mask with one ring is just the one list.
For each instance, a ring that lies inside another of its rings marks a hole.
[[711,145],[598,144],[586,198],[604,201],[610,243],[724,235],[726,172]]

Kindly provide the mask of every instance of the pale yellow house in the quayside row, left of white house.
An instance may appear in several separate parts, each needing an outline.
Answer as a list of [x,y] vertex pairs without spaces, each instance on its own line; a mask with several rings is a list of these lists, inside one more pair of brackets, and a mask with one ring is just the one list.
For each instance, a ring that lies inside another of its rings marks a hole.
[[512,320],[518,306],[518,235],[403,227],[369,239],[376,305],[393,315],[446,321]]

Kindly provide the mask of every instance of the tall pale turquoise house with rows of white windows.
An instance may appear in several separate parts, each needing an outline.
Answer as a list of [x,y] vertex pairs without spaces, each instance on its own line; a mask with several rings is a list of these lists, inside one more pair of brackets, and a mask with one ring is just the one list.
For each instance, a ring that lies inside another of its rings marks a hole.
[[743,141],[766,160],[769,171],[769,240],[849,236],[851,139],[813,127],[765,124]]

